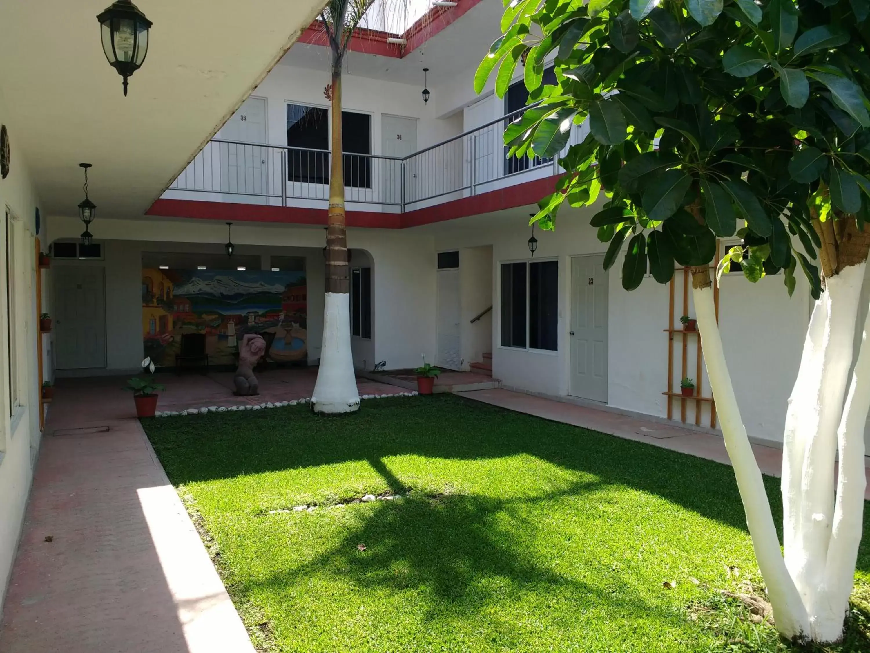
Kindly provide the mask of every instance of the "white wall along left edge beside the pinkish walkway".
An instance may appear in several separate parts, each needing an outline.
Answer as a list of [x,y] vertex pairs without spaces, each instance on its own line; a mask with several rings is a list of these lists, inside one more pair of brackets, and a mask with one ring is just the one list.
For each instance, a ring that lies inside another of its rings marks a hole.
[[[8,115],[4,111],[3,98],[0,98],[0,123],[7,125],[12,135],[10,173],[5,179],[0,179],[0,212],[9,209],[18,220],[18,247],[15,251],[20,270],[23,274],[22,291],[17,297],[17,306],[12,313],[15,320],[19,341],[26,343],[19,361],[23,364],[20,374],[19,400],[22,404],[10,419],[8,376],[9,360],[6,359],[6,306],[5,300],[0,301],[0,605],[3,603],[9,582],[12,562],[15,559],[18,538],[24,516],[24,508],[30,491],[30,481],[33,478],[33,463],[39,447],[39,396],[37,371],[37,335],[36,315],[36,275],[46,273],[36,267],[33,238],[36,235],[36,209],[39,199],[31,183],[30,174],[22,155],[16,148],[14,134],[16,125],[7,123]],[[0,219],[3,214],[0,213]],[[43,219],[43,229],[44,229]],[[0,232],[0,284],[5,287],[5,230]],[[5,297],[5,294],[0,295]],[[47,310],[47,309],[43,309]]]

